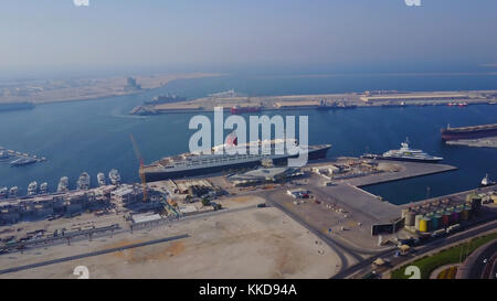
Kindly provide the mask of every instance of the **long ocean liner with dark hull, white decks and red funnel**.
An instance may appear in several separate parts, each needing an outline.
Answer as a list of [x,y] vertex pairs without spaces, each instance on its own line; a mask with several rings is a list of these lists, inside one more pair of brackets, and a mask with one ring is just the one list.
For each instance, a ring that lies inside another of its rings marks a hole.
[[[245,144],[237,144],[237,139],[232,140],[231,146],[236,148],[246,148],[246,154],[200,154],[200,153],[183,153],[176,157],[166,157],[159,161],[152,162],[149,165],[144,166],[144,174],[147,181],[161,181],[166,179],[176,179],[182,176],[192,176],[215,173],[228,170],[235,170],[241,168],[255,168],[262,164],[264,160],[272,160],[276,165],[287,164],[288,158],[297,157],[292,155],[287,152],[284,154],[276,154],[275,147],[278,143],[284,143],[287,140],[265,140],[265,141],[253,141]],[[296,140],[288,141],[300,148],[304,152],[305,148],[298,146]],[[230,141],[228,142],[230,143]],[[215,152],[220,148],[224,148],[226,144],[218,146],[212,148]],[[251,154],[248,151],[250,147],[257,147],[258,154]],[[261,154],[262,148],[271,148],[271,154]],[[321,146],[309,146],[307,149],[308,160],[324,159],[328,150],[331,148],[330,144]]]

